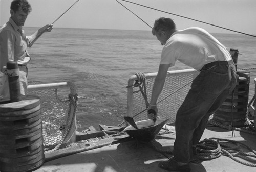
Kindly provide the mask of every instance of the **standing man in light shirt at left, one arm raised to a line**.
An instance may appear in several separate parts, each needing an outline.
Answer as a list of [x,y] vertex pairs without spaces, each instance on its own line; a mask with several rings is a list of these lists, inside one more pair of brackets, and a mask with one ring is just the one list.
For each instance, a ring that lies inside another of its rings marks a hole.
[[30,61],[30,55],[27,51],[28,45],[35,40],[38,35],[44,32],[51,32],[52,24],[37,30],[31,36],[26,36],[22,27],[31,12],[31,6],[27,0],[14,0],[11,3],[11,17],[3,27],[0,28],[0,72],[4,73],[0,94],[4,100],[10,99],[8,77],[6,75],[6,66],[8,61],[17,62],[19,68],[20,94],[27,94],[27,63]]

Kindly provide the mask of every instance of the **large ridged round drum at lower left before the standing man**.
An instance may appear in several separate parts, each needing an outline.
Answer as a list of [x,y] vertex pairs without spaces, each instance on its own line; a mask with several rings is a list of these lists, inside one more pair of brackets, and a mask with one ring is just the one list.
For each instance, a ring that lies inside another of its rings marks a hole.
[[0,104],[0,171],[33,171],[44,161],[39,97]]

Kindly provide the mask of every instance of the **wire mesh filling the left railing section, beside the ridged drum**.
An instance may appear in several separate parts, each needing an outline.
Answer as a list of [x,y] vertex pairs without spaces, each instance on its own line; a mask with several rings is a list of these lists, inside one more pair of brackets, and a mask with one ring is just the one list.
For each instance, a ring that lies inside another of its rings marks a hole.
[[57,91],[58,89],[28,90],[28,94],[40,97],[42,134],[46,149],[54,148],[61,141],[68,119],[68,97],[59,99]]

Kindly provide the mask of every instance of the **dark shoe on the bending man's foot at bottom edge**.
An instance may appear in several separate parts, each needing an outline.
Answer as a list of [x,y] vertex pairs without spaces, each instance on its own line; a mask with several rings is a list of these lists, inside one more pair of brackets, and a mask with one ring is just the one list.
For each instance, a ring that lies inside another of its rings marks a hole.
[[186,165],[178,165],[178,162],[173,158],[170,158],[168,161],[160,162],[158,167],[167,171],[190,172],[189,163]]

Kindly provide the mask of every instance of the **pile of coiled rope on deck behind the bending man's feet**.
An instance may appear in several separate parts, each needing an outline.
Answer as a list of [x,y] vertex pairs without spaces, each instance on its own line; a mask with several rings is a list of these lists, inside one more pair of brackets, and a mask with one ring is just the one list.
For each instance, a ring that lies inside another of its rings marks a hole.
[[[234,146],[228,146],[230,143]],[[244,152],[242,147],[250,150],[251,153]],[[209,138],[199,142],[196,145],[196,149],[198,153],[195,155],[193,161],[210,160],[224,155],[243,165],[256,167],[256,160],[251,158],[256,158],[256,151],[238,141]]]

